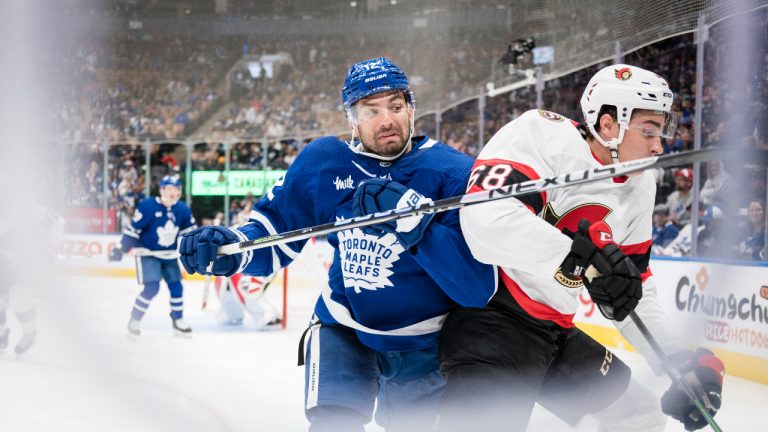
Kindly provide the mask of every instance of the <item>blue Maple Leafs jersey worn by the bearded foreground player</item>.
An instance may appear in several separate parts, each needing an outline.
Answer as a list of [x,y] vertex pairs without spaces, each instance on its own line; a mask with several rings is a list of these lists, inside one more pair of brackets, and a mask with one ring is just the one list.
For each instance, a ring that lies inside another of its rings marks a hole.
[[[473,159],[428,137],[396,161],[361,155],[336,137],[311,142],[286,175],[254,207],[243,238],[352,217],[352,196],[368,178],[397,181],[439,200],[464,193]],[[416,247],[405,250],[390,233],[352,229],[332,234],[329,283],[315,306],[324,323],[354,328],[379,351],[434,346],[456,304],[482,307],[496,290],[494,268],[476,261],[459,227],[458,210],[438,213]],[[246,253],[246,274],[268,275],[288,265],[306,241]]]

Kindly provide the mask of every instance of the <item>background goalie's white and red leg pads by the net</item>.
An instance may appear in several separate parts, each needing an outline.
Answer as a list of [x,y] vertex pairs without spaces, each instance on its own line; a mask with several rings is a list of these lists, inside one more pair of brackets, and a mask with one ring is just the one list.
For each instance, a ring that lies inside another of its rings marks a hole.
[[257,330],[276,328],[282,319],[264,295],[276,274],[216,276],[216,296],[221,305],[216,321],[223,325],[247,325]]

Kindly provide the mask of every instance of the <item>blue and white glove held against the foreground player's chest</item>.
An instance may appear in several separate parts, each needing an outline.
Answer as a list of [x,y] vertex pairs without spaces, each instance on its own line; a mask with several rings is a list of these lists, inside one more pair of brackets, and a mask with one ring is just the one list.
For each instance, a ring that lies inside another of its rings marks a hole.
[[[353,215],[357,217],[395,208],[417,206],[425,202],[431,203],[432,200],[392,180],[373,178],[365,180],[357,187],[352,198],[352,209]],[[395,234],[400,244],[410,249],[424,236],[434,216],[434,213],[422,213],[379,223],[369,228]]]

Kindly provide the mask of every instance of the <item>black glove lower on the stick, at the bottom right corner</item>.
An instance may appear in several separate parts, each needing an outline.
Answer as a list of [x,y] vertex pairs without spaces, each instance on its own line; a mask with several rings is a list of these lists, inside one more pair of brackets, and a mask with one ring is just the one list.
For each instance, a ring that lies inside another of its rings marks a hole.
[[[723,362],[711,351],[699,348],[696,352],[685,350],[669,356],[673,367],[682,375],[699,397],[699,401],[714,416],[720,409],[723,391]],[[664,414],[683,423],[685,430],[693,431],[707,425],[706,419],[691,402],[681,386],[673,382],[661,397],[661,410]]]

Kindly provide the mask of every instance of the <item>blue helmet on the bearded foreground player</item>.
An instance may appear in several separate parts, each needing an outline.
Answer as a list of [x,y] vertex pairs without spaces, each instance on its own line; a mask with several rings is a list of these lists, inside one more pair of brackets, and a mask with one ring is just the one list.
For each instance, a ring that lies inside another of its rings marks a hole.
[[341,100],[348,111],[360,99],[392,90],[402,91],[405,101],[415,106],[413,90],[405,72],[392,60],[378,57],[355,63],[349,68],[341,89]]

